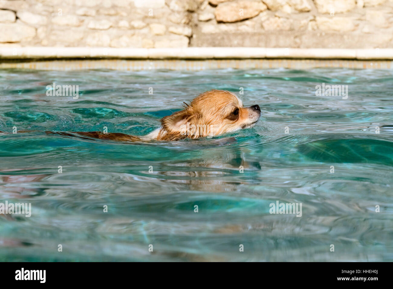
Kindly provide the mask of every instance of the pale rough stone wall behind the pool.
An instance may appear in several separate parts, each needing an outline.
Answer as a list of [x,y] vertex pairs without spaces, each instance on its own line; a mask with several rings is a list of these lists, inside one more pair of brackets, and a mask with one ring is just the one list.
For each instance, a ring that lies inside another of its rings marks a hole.
[[393,48],[393,0],[0,0],[0,46]]

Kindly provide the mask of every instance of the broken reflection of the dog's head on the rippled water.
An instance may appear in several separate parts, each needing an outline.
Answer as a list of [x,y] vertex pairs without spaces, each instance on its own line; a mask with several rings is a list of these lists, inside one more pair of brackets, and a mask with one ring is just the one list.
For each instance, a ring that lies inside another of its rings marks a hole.
[[[206,147],[203,152],[189,154],[184,159],[163,160],[159,168],[153,173],[145,173],[145,177],[183,184],[178,190],[221,193],[239,190],[240,184],[248,183],[248,177],[261,169],[258,160],[247,159],[250,149],[239,144],[235,138],[201,140],[198,143]],[[189,142],[187,147],[191,151],[198,149]]]

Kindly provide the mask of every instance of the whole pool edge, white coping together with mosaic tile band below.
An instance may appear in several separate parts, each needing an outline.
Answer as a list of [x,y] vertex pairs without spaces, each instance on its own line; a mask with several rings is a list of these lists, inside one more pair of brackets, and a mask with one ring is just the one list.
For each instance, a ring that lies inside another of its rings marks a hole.
[[0,68],[204,70],[315,67],[391,69],[393,49],[0,47]]

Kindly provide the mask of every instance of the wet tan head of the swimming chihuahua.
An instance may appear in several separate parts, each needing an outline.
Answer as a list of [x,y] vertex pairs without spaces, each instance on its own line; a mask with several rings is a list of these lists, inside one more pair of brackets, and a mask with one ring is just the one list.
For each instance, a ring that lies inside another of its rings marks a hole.
[[210,90],[198,95],[189,105],[165,116],[158,139],[180,140],[215,136],[253,127],[261,116],[259,105],[243,107],[242,101],[225,90]]

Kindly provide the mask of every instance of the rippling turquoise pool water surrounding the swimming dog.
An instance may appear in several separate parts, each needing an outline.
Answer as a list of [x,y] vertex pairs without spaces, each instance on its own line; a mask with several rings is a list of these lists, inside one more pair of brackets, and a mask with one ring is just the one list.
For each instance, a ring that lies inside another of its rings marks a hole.
[[[47,96],[53,82],[79,98]],[[261,121],[179,142],[43,132],[144,135],[212,88]],[[31,203],[0,215],[0,261],[393,261],[392,91],[389,70],[0,70],[0,202]]]

